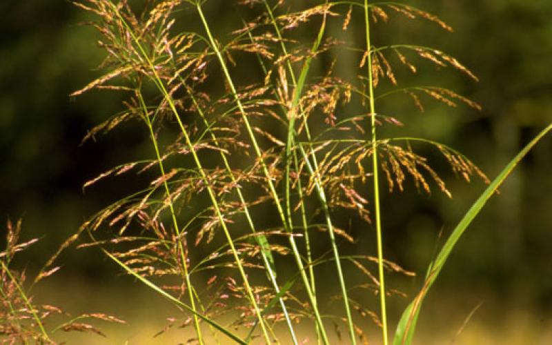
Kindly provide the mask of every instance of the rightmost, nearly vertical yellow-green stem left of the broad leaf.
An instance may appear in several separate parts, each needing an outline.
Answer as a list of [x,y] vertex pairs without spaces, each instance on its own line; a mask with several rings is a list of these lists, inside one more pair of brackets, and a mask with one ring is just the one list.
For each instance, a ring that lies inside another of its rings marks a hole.
[[378,163],[377,163],[377,137],[375,123],[375,99],[374,85],[372,74],[372,52],[370,40],[370,21],[368,19],[368,0],[364,0],[364,23],[366,26],[366,49],[368,50],[368,92],[370,96],[370,114],[371,114],[371,130],[372,130],[372,166],[374,174],[374,207],[375,207],[375,228],[377,237],[377,270],[380,275],[380,306],[382,317],[382,335],[384,345],[388,344],[387,338],[387,311],[386,311],[386,295],[385,295],[385,279],[384,279],[384,257],[382,245],[382,217],[380,213],[380,182],[378,179]]

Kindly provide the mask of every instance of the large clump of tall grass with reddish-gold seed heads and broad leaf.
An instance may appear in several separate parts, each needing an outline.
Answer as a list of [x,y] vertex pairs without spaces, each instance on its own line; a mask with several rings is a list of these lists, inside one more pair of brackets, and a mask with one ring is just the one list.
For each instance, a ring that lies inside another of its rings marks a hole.
[[[477,77],[437,48],[375,46],[373,31],[391,17],[452,31],[406,3],[228,2],[237,25],[222,34],[206,10],[215,0],[75,2],[95,15],[92,26],[106,58],[103,75],[72,96],[101,89],[125,99],[121,112],[85,139],[135,121],[150,141],[148,157],[121,162],[84,188],[132,172],[151,177],[83,224],[79,235],[91,240],[81,246],[101,248],[175,304],[182,313],[174,322],[193,327],[189,340],[198,344],[302,344],[299,327],[319,344],[330,344],[329,333],[338,327],[351,344],[376,337],[389,344],[386,299],[394,290],[385,277],[413,273],[384,259],[380,190],[402,191],[408,180],[424,193],[451,196],[416,152],[420,146],[440,152],[466,181],[491,181],[431,138],[381,135],[385,126],[403,126],[383,100],[408,97],[421,111],[431,101],[477,110],[474,101],[440,86],[398,86],[405,74],[420,74],[422,63]],[[362,40],[337,38],[351,37],[343,34],[350,26],[363,28]],[[539,138],[455,229],[402,315],[394,344],[411,342],[422,300],[457,239]],[[359,231],[371,234],[377,253],[343,249],[355,246]],[[363,284],[353,279],[359,274]],[[321,297],[328,280],[337,282],[330,299]],[[379,310],[357,301],[367,296],[377,296]],[[366,322],[380,326],[381,334],[367,334]]]

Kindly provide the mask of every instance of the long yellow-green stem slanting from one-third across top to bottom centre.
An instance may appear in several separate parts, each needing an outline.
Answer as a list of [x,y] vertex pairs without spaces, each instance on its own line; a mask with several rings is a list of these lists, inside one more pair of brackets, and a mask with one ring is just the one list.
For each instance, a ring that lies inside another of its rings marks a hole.
[[[219,62],[221,64],[221,68],[222,68],[222,70],[224,72],[224,75],[226,77],[226,81],[228,81],[228,85],[230,86],[230,90],[231,90],[231,92],[233,93],[233,95],[235,97],[235,101],[237,103],[239,112],[242,114],[242,118],[244,119],[244,124],[246,126],[246,130],[247,130],[248,135],[249,135],[249,137],[252,141],[253,148],[255,150],[255,154],[257,155],[257,157],[261,161],[263,172],[264,172],[264,175],[266,176],[268,188],[269,188],[270,194],[273,196],[273,199],[274,199],[275,204],[277,206],[278,214],[282,219],[282,223],[284,224],[284,227],[286,228],[286,230],[288,232],[290,232],[291,229],[292,229],[292,228],[290,228],[291,224],[288,223],[288,219],[286,219],[286,215],[284,213],[284,208],[282,208],[282,204],[279,201],[279,197],[277,195],[277,192],[276,192],[276,189],[274,187],[273,181],[270,177],[270,172],[268,172],[268,168],[267,168],[267,166],[264,162],[264,159],[262,158],[261,150],[259,148],[259,145],[257,144],[257,140],[255,139],[255,135],[253,134],[253,130],[252,130],[252,128],[249,124],[249,121],[247,119],[244,106],[242,105],[242,101],[239,99],[239,97],[237,95],[237,90],[234,86],[233,79],[232,79],[232,77],[230,77],[230,72],[228,72],[228,68],[226,67],[226,63],[224,62],[224,59],[221,55],[221,52],[220,52],[220,50],[217,46],[216,41],[213,38],[213,34],[211,34],[211,32],[210,32],[210,27],[208,26],[208,23],[206,21],[203,10],[201,10],[201,4],[196,3],[196,7],[197,7],[197,11],[199,13],[199,17],[201,17],[201,21],[203,22],[204,28],[207,32],[207,35],[208,35],[208,38],[209,38],[209,41],[210,41],[210,45],[212,46],[213,50],[215,50],[215,54],[217,55],[217,59],[219,60]],[[322,329],[322,338],[323,338],[324,344],[329,344],[328,337],[327,337],[327,335],[324,331],[324,326],[322,324],[322,317],[320,316],[320,313],[317,309],[317,304],[315,302],[315,299],[314,299],[314,296],[313,296],[313,293],[312,293],[312,290],[311,290],[310,283],[308,282],[308,277],[306,276],[305,268],[304,268],[304,265],[302,263],[301,256],[299,255],[299,249],[297,248],[297,244],[295,243],[295,238],[293,236],[290,236],[289,241],[290,241],[290,246],[291,246],[293,255],[295,257],[295,261],[297,262],[297,266],[299,266],[299,272],[302,276],[302,279],[303,279],[303,282],[304,282],[304,285],[305,285],[305,288],[306,288],[307,295],[308,295],[308,297],[311,301],[311,306],[313,307],[313,312],[315,313],[315,319],[316,319],[317,324],[319,325],[319,327]]]

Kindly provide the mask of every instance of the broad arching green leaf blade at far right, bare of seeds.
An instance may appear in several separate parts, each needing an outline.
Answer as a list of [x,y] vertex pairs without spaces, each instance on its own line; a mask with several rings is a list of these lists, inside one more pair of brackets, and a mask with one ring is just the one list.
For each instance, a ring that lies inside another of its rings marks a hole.
[[535,144],[546,135],[547,132],[552,130],[552,124],[550,124],[548,127],[544,128],[542,132],[540,132],[529,144],[527,144],[523,150],[521,150],[511,161],[510,163],[504,168],[500,174],[493,180],[493,182],[489,185],[489,187],[486,188],[484,193],[475,201],[475,203],[471,206],[471,208],[468,210],[466,215],[462,218],[460,223],[456,226],[456,228],[453,230],[453,233],[449,237],[449,239],[446,240],[446,243],[444,244],[443,248],[441,249],[439,255],[437,255],[437,258],[434,262],[432,262],[429,265],[428,272],[426,275],[426,281],[424,283],[424,286],[420,290],[420,293],[413,299],[413,301],[408,304],[408,307],[404,310],[402,313],[401,319],[399,321],[399,324],[397,325],[397,331],[395,332],[395,338],[393,339],[393,345],[409,345],[412,343],[412,339],[414,336],[415,328],[416,328],[416,322],[418,319],[418,315],[420,315],[420,308],[422,307],[422,302],[424,301],[424,297],[426,297],[429,288],[433,285],[435,282],[435,279],[437,279],[437,276],[439,275],[442,267],[444,266],[446,259],[451,254],[451,251],[453,250],[454,246],[458,242],[458,239],[462,236],[466,228],[471,224],[471,221],[477,216],[480,211],[482,210],[483,206],[486,204],[486,201],[489,200],[491,196],[497,191],[497,189],[500,187],[500,185],[504,182],[504,179],[508,177],[515,166],[517,166],[518,163],[525,157],[527,152],[535,146]]

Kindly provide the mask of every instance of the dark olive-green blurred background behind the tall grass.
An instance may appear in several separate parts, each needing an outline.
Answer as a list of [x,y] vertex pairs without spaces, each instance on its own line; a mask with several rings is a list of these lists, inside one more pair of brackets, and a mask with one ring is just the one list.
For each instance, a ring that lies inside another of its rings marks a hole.
[[[236,13],[233,1],[220,1],[219,8],[216,3],[211,1],[208,16],[224,26]],[[377,24],[374,43],[420,43],[457,57],[480,82],[451,68],[426,68],[406,83],[449,87],[483,110],[430,102],[423,114],[400,119],[411,135],[457,148],[493,178],[552,121],[552,1],[408,3],[437,14],[455,33],[432,23],[397,20]],[[17,262],[32,273],[83,221],[129,191],[120,179],[107,179],[86,193],[82,184],[128,157],[152,152],[142,145],[147,137],[139,126],[79,145],[88,129],[121,108],[121,99],[111,92],[68,97],[100,73],[95,70],[103,58],[97,35],[79,24],[90,20],[88,14],[68,1],[1,1],[0,11],[0,221],[23,217],[23,239],[40,238]],[[440,171],[452,200],[437,192],[420,195],[412,186],[384,195],[386,255],[418,275],[442,243],[440,232],[450,233],[485,188],[480,181],[465,184],[446,168]],[[552,138],[547,137],[455,248],[422,311],[418,344],[552,343],[551,172]],[[107,326],[108,340],[98,344],[125,339],[152,344],[150,335],[162,328],[152,313],[175,313],[121,275],[99,250],[69,248],[60,262],[61,271],[37,286],[37,298],[50,297],[71,313],[103,311],[130,322]],[[413,293],[420,279],[411,279],[407,292]],[[392,303],[397,308],[392,319],[405,302]],[[177,335],[157,341],[177,342]]]

